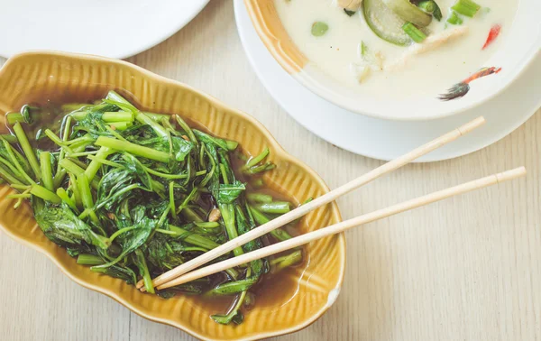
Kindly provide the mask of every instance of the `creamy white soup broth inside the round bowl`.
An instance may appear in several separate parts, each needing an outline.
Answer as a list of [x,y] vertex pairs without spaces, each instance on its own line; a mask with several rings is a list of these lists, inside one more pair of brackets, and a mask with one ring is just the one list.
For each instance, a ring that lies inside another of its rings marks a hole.
[[[492,67],[486,62],[507,39],[518,0],[475,2],[481,9],[472,18],[461,16],[458,25],[446,21],[456,0],[436,0],[443,18],[421,29],[426,40],[398,46],[372,32],[362,5],[350,16],[333,0],[274,0],[281,23],[308,60],[341,84],[378,98],[433,96],[481,67]],[[315,23],[328,29],[315,36]],[[483,50],[495,25],[500,35]],[[370,74],[360,79],[367,59]]]

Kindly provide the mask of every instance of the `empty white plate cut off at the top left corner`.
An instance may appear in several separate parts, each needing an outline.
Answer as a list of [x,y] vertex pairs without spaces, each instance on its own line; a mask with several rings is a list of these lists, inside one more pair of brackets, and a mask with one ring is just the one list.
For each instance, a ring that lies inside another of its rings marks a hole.
[[166,40],[209,0],[0,0],[0,55],[59,50],[127,58]]

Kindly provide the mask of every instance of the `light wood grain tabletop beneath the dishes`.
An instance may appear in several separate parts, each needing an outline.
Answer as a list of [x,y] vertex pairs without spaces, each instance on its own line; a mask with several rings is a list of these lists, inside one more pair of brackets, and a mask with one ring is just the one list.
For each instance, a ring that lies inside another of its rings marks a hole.
[[[381,164],[324,142],[280,109],[244,56],[231,0],[211,1],[182,31],[129,61],[254,115],[331,188]],[[519,165],[528,170],[526,179],[347,232],[340,297],[283,339],[541,340],[540,134],[541,111],[481,152],[408,165],[341,198],[350,218]],[[0,340],[193,339],[79,287],[2,234],[0,279]]]

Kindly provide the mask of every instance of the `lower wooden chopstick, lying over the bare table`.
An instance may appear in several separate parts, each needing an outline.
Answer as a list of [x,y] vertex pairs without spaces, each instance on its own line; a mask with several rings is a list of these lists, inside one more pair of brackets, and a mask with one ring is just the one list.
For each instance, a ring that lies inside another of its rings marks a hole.
[[197,280],[202,277],[206,277],[216,272],[222,272],[224,270],[231,269],[241,264],[250,263],[256,259],[268,257],[272,254],[287,251],[289,249],[298,247],[303,244],[310,243],[312,241],[324,238],[329,235],[339,234],[355,226],[362,226],[364,224],[371,223],[375,220],[379,220],[384,217],[390,217],[400,212],[404,212],[413,208],[425,206],[425,205],[434,203],[436,201],[439,201],[445,198],[453,197],[458,194],[463,194],[463,193],[472,191],[474,189],[482,189],[482,188],[485,188],[485,187],[488,187],[488,186],[491,186],[503,181],[516,179],[518,177],[524,176],[525,174],[526,174],[526,169],[524,167],[520,167],[515,170],[504,171],[502,173],[493,174],[486,178],[473,180],[470,182],[463,183],[462,185],[436,191],[423,197],[410,199],[408,201],[404,201],[402,203],[393,205],[391,207],[381,208],[377,211],[373,211],[366,215],[354,217],[352,219],[345,220],[341,223],[324,227],[313,232],[309,232],[305,235],[298,235],[297,237],[291,238],[284,242],[271,244],[259,250],[252,251],[251,253],[244,253],[240,256],[230,258],[220,263],[215,263],[215,264],[206,266],[204,268],[197,269],[196,271],[188,272],[172,281],[168,281],[166,283],[161,284],[160,286],[157,287],[157,289],[158,290],[167,289],[179,284],[187,283],[188,281],[194,281],[194,280]]

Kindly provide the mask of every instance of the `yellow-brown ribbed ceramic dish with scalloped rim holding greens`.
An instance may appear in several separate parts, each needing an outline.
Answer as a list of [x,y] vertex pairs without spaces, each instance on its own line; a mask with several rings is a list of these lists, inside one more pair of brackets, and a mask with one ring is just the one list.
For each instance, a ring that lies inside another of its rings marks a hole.
[[[252,154],[268,146],[277,168],[265,175],[267,183],[298,202],[328,190],[315,171],[285,152],[252,116],[121,60],[54,52],[14,56],[0,69],[0,129],[5,126],[3,114],[19,110],[24,103],[43,99],[87,101],[103,97],[109,89],[120,91],[146,110],[183,115],[212,134],[238,141]],[[78,265],[41,233],[30,207],[14,210],[13,201],[5,198],[10,192],[8,187],[0,187],[0,228],[7,235],[45,253],[80,285],[104,293],[143,318],[179,327],[201,339],[252,340],[307,327],[335,302],[344,279],[344,235],[308,244],[304,266],[289,274],[291,285],[280,289],[276,299],[256,304],[240,326],[219,325],[209,318],[214,311],[194,298],[163,300]],[[329,204],[308,214],[301,232],[339,221],[338,207]]]

